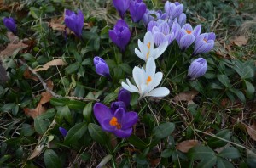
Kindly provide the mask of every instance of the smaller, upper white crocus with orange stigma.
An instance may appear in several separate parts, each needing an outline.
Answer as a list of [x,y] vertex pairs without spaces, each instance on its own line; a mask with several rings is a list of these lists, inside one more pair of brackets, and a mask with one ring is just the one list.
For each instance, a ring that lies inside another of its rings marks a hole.
[[141,42],[141,40],[138,40],[137,44],[140,51],[135,48],[135,53],[140,59],[143,59],[146,62],[150,57],[154,59],[159,58],[160,55],[166,51],[168,46],[168,42],[163,42],[158,48],[154,48],[154,36],[150,31],[145,34],[144,41]]

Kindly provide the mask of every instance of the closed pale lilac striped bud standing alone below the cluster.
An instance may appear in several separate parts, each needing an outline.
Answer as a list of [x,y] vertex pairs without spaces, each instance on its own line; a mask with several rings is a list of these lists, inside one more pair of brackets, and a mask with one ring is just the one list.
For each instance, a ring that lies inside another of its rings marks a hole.
[[207,60],[203,58],[195,59],[189,66],[189,80],[205,75],[207,72]]

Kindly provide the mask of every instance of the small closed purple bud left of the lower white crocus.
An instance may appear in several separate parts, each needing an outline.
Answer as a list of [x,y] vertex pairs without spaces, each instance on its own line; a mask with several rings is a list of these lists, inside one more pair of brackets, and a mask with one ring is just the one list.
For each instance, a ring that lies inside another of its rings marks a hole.
[[110,77],[109,68],[106,61],[98,56],[94,57],[93,63],[96,68],[96,73],[100,76]]

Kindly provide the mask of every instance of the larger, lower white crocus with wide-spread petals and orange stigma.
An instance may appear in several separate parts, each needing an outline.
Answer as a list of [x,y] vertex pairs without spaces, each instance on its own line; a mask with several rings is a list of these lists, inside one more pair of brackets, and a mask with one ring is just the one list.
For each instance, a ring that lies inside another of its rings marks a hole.
[[150,57],[146,63],[146,70],[137,66],[132,70],[132,76],[137,87],[132,85],[129,79],[126,79],[127,84],[122,82],[122,87],[130,92],[138,92],[140,98],[146,96],[165,97],[170,93],[169,89],[166,87],[158,87],[154,89],[154,87],[157,87],[160,84],[160,81],[163,78],[163,73],[155,73],[155,69],[154,59]]

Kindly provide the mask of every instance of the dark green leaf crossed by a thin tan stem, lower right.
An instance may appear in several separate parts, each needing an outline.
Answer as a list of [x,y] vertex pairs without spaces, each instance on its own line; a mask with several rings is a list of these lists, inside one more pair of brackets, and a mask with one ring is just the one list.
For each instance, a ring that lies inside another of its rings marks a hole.
[[[218,138],[219,137],[219,138]],[[227,141],[230,141],[230,137],[231,137],[231,132],[230,130],[228,129],[225,129],[225,130],[222,130],[220,132],[218,132],[216,134],[216,137],[211,137],[207,144],[210,146],[210,147],[223,147],[224,145],[226,145],[228,142],[226,141],[223,141],[222,139],[224,140],[227,140]]]

